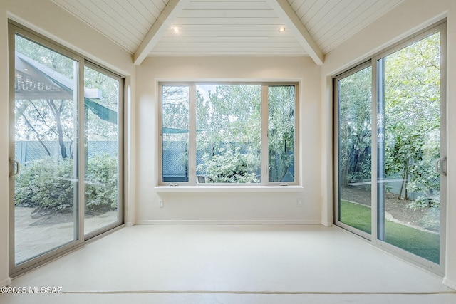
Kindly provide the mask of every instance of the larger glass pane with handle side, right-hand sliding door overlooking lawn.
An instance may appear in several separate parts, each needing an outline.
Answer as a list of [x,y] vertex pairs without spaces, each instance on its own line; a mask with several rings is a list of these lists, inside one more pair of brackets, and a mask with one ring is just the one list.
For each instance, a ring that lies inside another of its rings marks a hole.
[[438,264],[440,33],[381,58],[378,74],[378,239]]

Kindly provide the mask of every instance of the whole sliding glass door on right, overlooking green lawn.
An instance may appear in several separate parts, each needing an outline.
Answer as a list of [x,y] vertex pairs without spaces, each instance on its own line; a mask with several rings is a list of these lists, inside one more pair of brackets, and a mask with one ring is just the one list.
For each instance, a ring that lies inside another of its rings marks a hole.
[[445,23],[339,75],[334,92],[335,223],[442,271]]

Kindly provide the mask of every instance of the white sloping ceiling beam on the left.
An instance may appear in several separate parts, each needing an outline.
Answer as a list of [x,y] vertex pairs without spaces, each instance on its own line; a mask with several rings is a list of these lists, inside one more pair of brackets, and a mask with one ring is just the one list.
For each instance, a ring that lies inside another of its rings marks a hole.
[[142,61],[149,55],[152,48],[162,38],[163,34],[171,23],[175,21],[177,16],[185,9],[190,0],[170,0],[165,6],[165,9],[160,13],[155,23],[150,28],[149,32],[141,42],[138,50],[133,55],[133,64],[140,65]]

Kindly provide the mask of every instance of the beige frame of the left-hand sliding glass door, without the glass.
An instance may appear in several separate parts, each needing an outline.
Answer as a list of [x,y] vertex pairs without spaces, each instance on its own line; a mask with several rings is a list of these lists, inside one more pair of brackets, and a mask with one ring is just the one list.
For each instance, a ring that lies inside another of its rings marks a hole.
[[[75,202],[75,229],[76,229],[76,240],[71,241],[69,243],[64,244],[61,247],[51,249],[46,253],[42,253],[39,256],[31,258],[29,260],[24,261],[16,265],[15,263],[15,243],[14,243],[14,234],[15,234],[15,219],[14,219],[14,176],[9,177],[9,275],[12,277],[19,276],[21,273],[25,273],[26,271],[31,270],[32,268],[36,268],[37,266],[42,265],[43,263],[47,263],[48,261],[52,261],[59,256],[63,256],[63,254],[73,251],[75,248],[82,246],[84,243],[90,240],[98,239],[99,236],[103,236],[104,234],[109,234],[115,229],[120,229],[124,224],[124,182],[123,182],[123,174],[124,174],[124,159],[123,159],[123,152],[124,152],[124,136],[123,136],[123,126],[125,117],[123,115],[123,109],[125,104],[125,92],[124,88],[124,78],[118,74],[115,74],[108,70],[108,68],[104,68],[101,65],[97,65],[95,63],[91,63],[87,61],[83,56],[78,53],[74,53],[73,51],[68,50],[68,48],[61,46],[60,44],[51,41],[46,36],[41,35],[40,33],[36,33],[21,24],[16,23],[15,21],[9,20],[8,24],[9,28],[9,159],[15,158],[15,149],[14,149],[14,125],[15,125],[15,117],[14,117],[14,108],[15,108],[15,90],[14,90],[14,71],[15,71],[15,36],[19,34],[20,36],[24,36],[37,44],[45,46],[46,48],[50,48],[52,51],[56,51],[57,53],[61,53],[63,56],[71,58],[73,61],[77,62],[76,68],[76,76],[78,77],[78,90],[73,92],[75,104],[77,105],[78,112],[77,117],[75,118],[77,130],[76,132],[76,140],[77,143],[77,155],[74,160],[77,163],[77,174],[78,179],[80,174],[84,172],[84,163],[85,153],[83,145],[80,145],[81,139],[84,137],[84,124],[83,122],[86,118],[84,115],[84,67],[88,66],[95,70],[98,70],[100,73],[108,75],[112,78],[115,78],[119,81],[119,101],[118,101],[118,221],[115,221],[107,226],[103,226],[100,229],[95,231],[91,231],[89,234],[84,235],[84,206],[85,206],[85,183],[84,182],[77,182],[77,196],[78,199]],[[82,126],[82,127],[81,127]],[[10,172],[14,171],[14,168],[11,168],[11,164],[9,164]],[[81,173],[82,172],[82,173]]]

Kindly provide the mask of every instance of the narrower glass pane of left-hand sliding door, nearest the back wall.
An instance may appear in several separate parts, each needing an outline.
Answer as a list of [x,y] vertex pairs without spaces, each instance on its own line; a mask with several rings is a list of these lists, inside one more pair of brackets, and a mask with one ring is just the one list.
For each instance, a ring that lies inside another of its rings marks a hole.
[[120,82],[84,67],[84,234],[119,220]]

